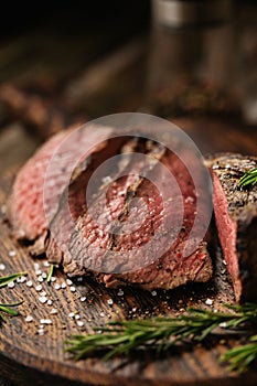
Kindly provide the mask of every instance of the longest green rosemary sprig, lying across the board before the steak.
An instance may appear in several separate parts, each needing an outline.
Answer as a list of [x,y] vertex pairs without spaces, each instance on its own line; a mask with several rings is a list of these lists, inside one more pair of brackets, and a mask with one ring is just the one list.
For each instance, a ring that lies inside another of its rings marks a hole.
[[[217,328],[238,332],[239,328],[246,329],[249,324],[257,322],[257,304],[226,307],[229,312],[190,308],[188,313],[174,318],[110,322],[107,328],[96,329],[101,330],[101,334],[73,336],[65,342],[66,351],[73,352],[76,361],[88,353],[103,353],[103,351],[107,351],[103,360],[108,360],[117,354],[128,354],[140,346],[156,347],[161,352],[178,343],[203,341],[215,333]],[[251,352],[251,357],[253,355]],[[226,360],[229,360],[229,356]],[[244,368],[244,364],[242,366]]]

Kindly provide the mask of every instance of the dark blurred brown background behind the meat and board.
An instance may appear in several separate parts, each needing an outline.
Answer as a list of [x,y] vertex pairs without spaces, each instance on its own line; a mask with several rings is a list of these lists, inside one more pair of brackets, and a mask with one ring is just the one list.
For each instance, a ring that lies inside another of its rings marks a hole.
[[256,154],[256,1],[6,3],[0,173],[52,133],[122,111],[176,122],[204,153]]

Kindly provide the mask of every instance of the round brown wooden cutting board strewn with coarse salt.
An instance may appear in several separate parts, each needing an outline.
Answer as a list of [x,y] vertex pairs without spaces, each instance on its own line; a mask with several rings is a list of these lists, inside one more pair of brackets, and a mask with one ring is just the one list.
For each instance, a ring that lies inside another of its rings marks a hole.
[[[10,183],[10,176],[0,180],[2,212]],[[0,291],[0,302],[23,300],[19,308],[21,315],[7,318],[7,323],[0,328],[0,375],[19,385],[182,386],[222,383],[235,386],[242,385],[243,378],[244,384],[255,385],[256,371],[242,378],[221,365],[218,358],[227,349],[221,337],[193,349],[171,350],[160,357],[153,351],[141,350],[108,362],[97,356],[74,362],[72,355],[64,352],[66,339],[92,332],[95,326],[100,330],[110,320],[174,315],[188,305],[219,310],[223,302],[234,302],[221,254],[217,253],[215,259],[215,275],[210,283],[186,286],[173,291],[107,290],[93,280],[74,281],[68,286],[61,270],[55,272],[56,281],[47,285],[45,280],[39,281],[42,274],[39,275],[34,266],[38,264],[42,272],[47,272],[45,259],[32,259],[26,246],[13,242],[4,214],[1,214],[0,264],[6,269],[0,275],[26,271],[28,277],[26,281],[15,283],[14,288],[7,287]],[[28,287],[28,281],[32,287]],[[42,286],[41,291],[36,288],[39,285]],[[46,292],[45,303],[39,299],[42,291]],[[211,305],[205,304],[207,299],[212,300]],[[56,313],[51,314],[53,308]],[[72,318],[71,313],[78,317]],[[33,321],[28,322],[26,317],[32,317]],[[42,319],[51,320],[51,324],[43,329],[44,334],[40,332]],[[229,346],[236,344],[236,341],[229,342]]]

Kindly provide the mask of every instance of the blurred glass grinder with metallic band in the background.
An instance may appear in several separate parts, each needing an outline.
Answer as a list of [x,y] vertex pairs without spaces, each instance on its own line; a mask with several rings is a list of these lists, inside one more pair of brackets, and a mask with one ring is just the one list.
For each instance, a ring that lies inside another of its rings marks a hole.
[[152,0],[144,111],[238,112],[233,20],[233,0]]

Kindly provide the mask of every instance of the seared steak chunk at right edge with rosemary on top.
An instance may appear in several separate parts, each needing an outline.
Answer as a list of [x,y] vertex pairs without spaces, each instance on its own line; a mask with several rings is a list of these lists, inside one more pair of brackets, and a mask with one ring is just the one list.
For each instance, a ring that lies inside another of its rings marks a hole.
[[257,297],[257,185],[238,187],[244,173],[257,167],[256,157],[217,154],[208,159],[213,204],[227,270],[237,301]]

